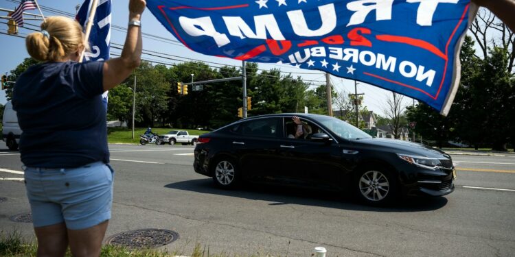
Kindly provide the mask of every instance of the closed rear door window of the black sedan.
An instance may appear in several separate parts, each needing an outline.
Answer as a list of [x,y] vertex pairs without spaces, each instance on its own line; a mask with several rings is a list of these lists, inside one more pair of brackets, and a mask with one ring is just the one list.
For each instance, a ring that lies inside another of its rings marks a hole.
[[275,118],[247,121],[231,127],[230,131],[245,136],[277,137],[278,120]]

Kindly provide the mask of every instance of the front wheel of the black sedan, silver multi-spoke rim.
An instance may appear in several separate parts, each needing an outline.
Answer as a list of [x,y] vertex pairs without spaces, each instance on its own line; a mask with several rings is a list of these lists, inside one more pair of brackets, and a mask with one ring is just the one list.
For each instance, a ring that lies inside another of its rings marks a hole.
[[385,206],[396,197],[396,180],[386,170],[363,169],[357,178],[356,193],[365,204]]

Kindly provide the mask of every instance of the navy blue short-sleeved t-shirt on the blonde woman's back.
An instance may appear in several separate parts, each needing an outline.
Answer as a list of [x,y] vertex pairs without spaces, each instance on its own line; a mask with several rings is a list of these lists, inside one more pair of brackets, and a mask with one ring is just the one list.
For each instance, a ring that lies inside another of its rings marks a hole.
[[45,62],[16,80],[12,107],[23,130],[21,161],[27,167],[72,168],[109,162],[104,62]]

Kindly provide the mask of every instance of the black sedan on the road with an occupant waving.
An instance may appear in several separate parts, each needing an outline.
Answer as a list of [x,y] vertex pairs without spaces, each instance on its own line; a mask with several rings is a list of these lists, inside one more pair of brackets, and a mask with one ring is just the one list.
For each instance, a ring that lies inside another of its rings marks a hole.
[[[294,121],[292,118],[300,119]],[[448,154],[402,140],[374,138],[318,114],[270,114],[203,134],[194,169],[222,188],[242,181],[354,193],[383,205],[400,195],[447,195],[456,177]]]

